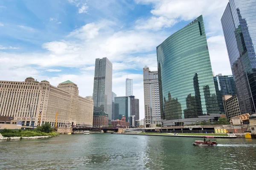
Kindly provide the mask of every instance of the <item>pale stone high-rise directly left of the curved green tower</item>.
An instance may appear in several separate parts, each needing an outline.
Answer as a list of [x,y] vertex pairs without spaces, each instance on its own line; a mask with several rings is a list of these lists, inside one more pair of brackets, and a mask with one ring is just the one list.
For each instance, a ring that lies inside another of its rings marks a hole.
[[161,124],[158,72],[143,68],[145,127]]

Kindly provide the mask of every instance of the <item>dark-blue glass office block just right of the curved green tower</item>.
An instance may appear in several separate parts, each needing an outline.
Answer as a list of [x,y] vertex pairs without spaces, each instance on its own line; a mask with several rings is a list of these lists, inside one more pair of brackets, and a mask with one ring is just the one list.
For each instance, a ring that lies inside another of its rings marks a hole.
[[222,95],[236,95],[236,86],[233,75],[222,76],[222,74],[218,74],[214,76],[213,79],[215,91],[217,94],[218,106],[220,108],[221,114],[224,114],[225,110]]

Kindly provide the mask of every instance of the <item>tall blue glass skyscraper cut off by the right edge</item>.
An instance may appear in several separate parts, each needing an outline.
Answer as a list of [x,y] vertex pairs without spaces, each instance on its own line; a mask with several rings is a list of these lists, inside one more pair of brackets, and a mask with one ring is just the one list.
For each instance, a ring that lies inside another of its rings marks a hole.
[[255,113],[256,0],[230,0],[221,24],[241,113]]

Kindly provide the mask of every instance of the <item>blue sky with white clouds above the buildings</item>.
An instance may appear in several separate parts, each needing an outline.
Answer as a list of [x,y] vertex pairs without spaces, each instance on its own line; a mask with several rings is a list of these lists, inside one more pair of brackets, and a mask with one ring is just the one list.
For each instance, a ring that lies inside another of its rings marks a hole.
[[1,0],[0,80],[70,80],[92,96],[96,58],[113,63],[113,92],[133,79],[144,118],[143,67],[157,71],[156,47],[203,15],[215,74],[232,74],[221,27],[228,0]]

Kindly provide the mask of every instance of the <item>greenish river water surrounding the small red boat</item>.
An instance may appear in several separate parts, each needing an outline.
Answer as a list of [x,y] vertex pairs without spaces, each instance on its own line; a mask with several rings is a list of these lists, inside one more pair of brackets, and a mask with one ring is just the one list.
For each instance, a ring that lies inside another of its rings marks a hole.
[[121,134],[60,135],[0,142],[0,170],[255,170],[256,139]]

